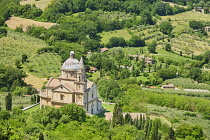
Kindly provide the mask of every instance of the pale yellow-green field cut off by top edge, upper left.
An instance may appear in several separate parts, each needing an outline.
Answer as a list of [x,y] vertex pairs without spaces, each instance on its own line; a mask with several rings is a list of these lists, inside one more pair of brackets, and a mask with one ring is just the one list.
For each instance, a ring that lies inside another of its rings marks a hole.
[[23,0],[23,1],[20,2],[20,4],[21,5],[35,4],[36,7],[44,10],[51,1],[52,0],[38,0],[38,1],[36,1],[36,0]]

